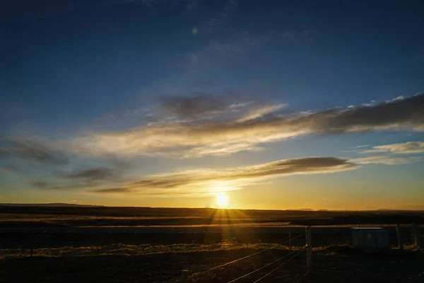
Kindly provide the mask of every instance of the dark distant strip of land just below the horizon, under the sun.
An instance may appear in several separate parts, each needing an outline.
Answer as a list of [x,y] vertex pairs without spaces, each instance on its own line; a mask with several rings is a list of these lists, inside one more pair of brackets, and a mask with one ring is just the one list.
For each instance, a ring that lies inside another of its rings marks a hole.
[[0,228],[182,225],[363,225],[424,224],[424,212],[381,210],[330,212],[302,210],[179,209],[149,207],[13,207],[0,205]]

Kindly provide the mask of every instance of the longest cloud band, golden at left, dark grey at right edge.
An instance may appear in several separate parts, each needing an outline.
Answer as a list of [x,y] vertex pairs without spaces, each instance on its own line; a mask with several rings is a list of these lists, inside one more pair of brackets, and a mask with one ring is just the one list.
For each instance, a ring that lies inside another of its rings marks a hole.
[[[209,107],[209,106],[208,106]],[[209,110],[212,108],[204,108]],[[185,107],[177,108],[184,113]],[[187,112],[192,113],[190,107]],[[196,110],[195,110],[196,111]],[[244,114],[242,113],[242,117]],[[184,157],[187,152],[223,153],[228,147],[256,149],[258,145],[305,134],[346,134],[383,130],[424,130],[424,95],[356,108],[266,115],[261,119],[208,120],[148,125],[119,132],[76,137],[71,146],[90,154],[160,155]],[[237,151],[228,151],[228,154]],[[195,154],[196,155],[196,154]]]

